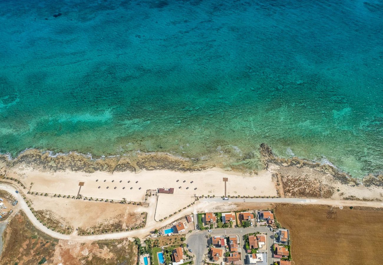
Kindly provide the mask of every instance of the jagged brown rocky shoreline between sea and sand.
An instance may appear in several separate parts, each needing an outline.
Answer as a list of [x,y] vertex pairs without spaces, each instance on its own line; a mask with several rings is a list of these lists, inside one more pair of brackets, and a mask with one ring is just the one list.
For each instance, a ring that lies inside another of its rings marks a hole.
[[[369,174],[362,179],[353,178],[339,169],[318,162],[299,159],[292,157],[284,159],[277,157],[273,154],[270,146],[261,144],[259,147],[260,161],[264,168],[269,169],[270,166],[280,168],[275,173],[282,175],[290,175],[289,170],[296,174],[297,169],[304,170],[304,168],[311,168],[315,172],[321,174],[318,177],[331,176],[335,181],[347,185],[360,185],[364,186],[383,186],[383,175]],[[10,169],[16,167],[30,167],[36,170],[43,171],[80,171],[86,173],[93,173],[95,171],[103,171],[108,173],[113,172],[139,172],[140,170],[173,170],[180,172],[200,171],[208,168],[219,167],[224,170],[231,170],[235,172],[249,173],[250,175],[257,174],[255,170],[249,170],[244,164],[249,162],[252,157],[244,157],[242,161],[236,161],[228,166],[213,157],[207,157],[204,160],[188,159],[180,156],[175,156],[167,153],[152,152],[152,153],[135,153],[133,155],[111,156],[92,158],[90,155],[82,155],[76,152],[69,154],[52,155],[49,152],[42,152],[37,149],[28,149],[22,152],[18,157],[10,159],[6,155],[0,156],[0,168]],[[242,163],[241,162],[245,162]],[[283,171],[283,172],[278,172]],[[298,170],[299,171],[299,170]]]

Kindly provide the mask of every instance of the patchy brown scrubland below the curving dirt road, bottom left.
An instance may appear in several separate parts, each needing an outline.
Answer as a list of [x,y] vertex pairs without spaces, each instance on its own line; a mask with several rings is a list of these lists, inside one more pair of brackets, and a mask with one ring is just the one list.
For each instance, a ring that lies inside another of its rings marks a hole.
[[136,264],[137,246],[127,239],[77,243],[57,240],[37,230],[25,214],[17,214],[4,232],[0,265]]

